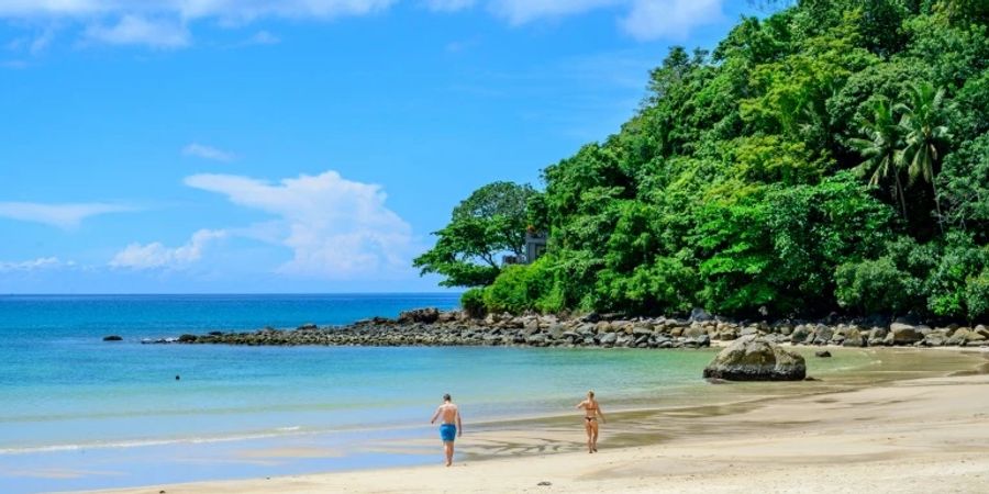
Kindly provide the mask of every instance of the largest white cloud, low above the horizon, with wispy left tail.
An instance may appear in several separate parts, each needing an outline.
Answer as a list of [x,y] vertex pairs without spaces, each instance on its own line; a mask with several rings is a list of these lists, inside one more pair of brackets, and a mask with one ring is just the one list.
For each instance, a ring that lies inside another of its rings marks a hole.
[[386,207],[376,184],[346,180],[335,171],[302,175],[269,183],[231,175],[196,175],[189,187],[218,192],[237,205],[264,211],[277,221],[262,224],[255,238],[271,238],[290,248],[292,259],[279,268],[290,274],[353,279],[390,276],[409,269],[412,228]]

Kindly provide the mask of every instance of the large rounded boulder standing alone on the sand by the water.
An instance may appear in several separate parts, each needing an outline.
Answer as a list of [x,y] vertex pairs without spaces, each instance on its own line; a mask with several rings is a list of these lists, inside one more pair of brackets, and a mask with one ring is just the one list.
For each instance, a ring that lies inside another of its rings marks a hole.
[[800,381],[805,377],[803,357],[755,335],[736,339],[704,368],[705,379],[729,381]]

